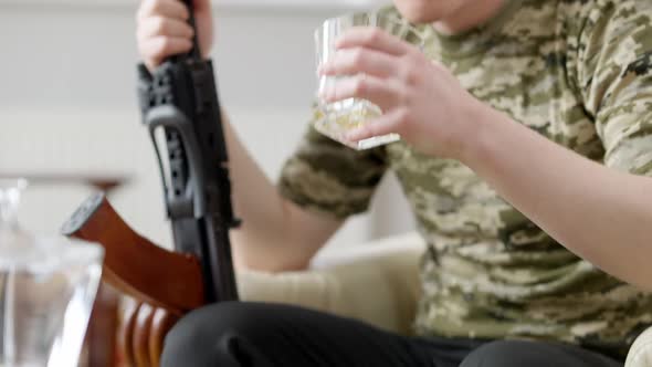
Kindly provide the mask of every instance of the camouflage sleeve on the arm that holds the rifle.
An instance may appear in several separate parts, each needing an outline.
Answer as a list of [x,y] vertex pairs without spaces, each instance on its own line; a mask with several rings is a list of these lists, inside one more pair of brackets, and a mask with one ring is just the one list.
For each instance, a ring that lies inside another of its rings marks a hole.
[[278,190],[299,207],[336,218],[364,212],[386,171],[385,151],[385,147],[351,149],[311,124],[281,171]]

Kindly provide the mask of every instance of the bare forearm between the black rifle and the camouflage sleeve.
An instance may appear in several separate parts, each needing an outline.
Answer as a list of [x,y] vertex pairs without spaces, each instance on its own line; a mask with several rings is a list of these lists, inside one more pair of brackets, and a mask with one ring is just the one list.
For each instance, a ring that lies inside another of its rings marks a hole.
[[[311,230],[307,213],[278,193],[223,116],[235,214],[243,220],[231,231],[236,266],[263,271],[302,269],[325,242],[324,226]],[[324,219],[328,223],[328,219]],[[338,224],[332,223],[333,230]],[[329,226],[326,226],[329,230]]]

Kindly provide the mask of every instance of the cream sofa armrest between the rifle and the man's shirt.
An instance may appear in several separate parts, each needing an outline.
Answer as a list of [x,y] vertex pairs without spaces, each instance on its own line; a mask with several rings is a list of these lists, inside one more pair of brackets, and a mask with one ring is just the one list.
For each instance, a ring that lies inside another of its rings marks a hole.
[[423,249],[421,238],[410,233],[320,254],[307,271],[241,271],[240,296],[301,305],[410,334]]

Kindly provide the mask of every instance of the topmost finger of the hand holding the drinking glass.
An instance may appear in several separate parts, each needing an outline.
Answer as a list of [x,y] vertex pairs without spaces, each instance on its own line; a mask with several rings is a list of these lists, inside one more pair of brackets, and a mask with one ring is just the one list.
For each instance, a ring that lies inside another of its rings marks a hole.
[[399,38],[372,27],[351,28],[336,41],[335,46],[337,49],[365,48],[395,56],[400,56],[411,51],[410,46]]

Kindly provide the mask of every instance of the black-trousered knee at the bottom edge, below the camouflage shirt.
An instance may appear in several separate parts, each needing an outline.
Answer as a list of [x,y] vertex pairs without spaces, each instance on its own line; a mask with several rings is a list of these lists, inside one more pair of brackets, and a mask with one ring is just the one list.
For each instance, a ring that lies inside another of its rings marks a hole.
[[460,367],[537,367],[548,359],[536,343],[524,340],[501,340],[487,343],[473,350]]

